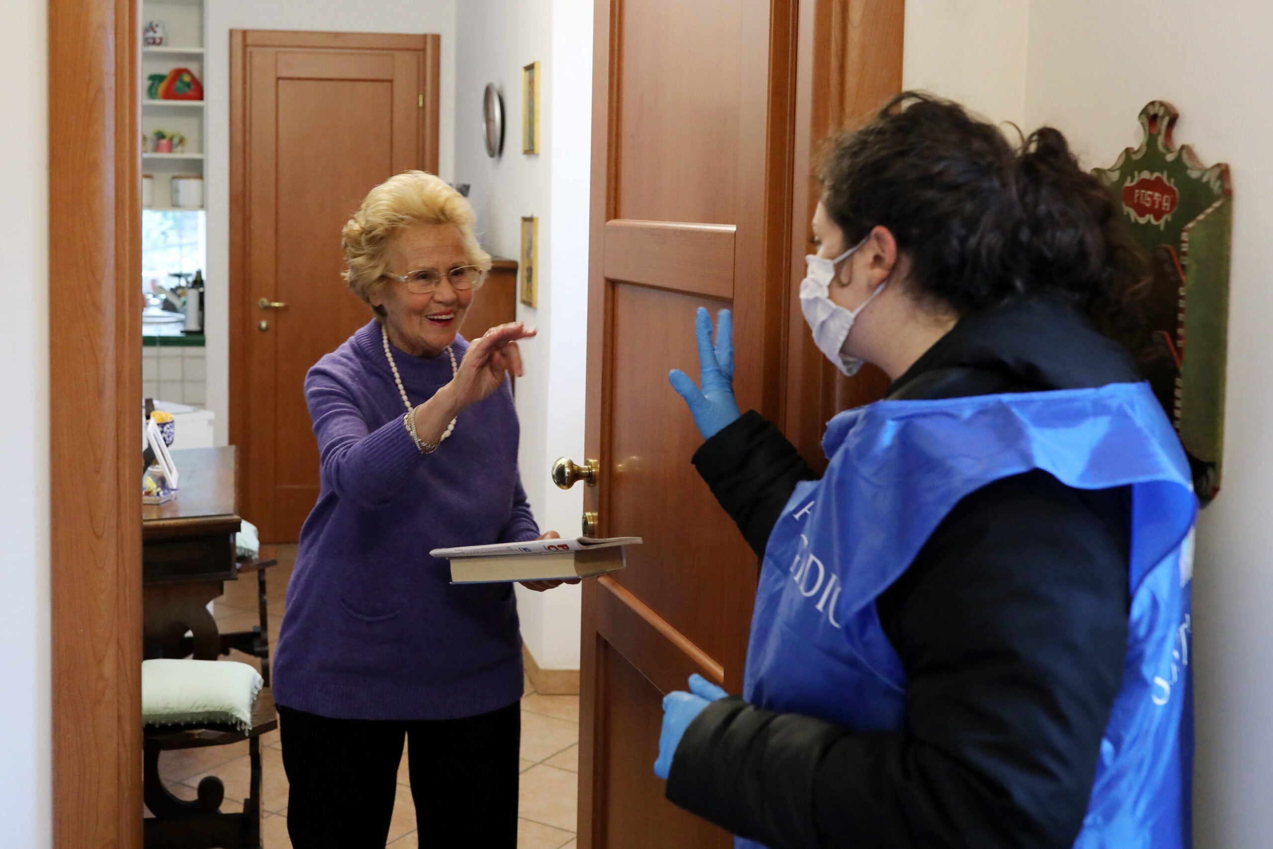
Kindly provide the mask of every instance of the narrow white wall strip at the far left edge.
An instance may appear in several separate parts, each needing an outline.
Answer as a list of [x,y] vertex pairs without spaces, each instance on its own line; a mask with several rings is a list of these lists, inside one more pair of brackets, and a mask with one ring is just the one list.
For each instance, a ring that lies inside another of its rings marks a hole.
[[[47,4],[14,4],[0,28],[0,824],[6,846],[52,843],[48,552]],[[74,297],[74,284],[67,284]]]

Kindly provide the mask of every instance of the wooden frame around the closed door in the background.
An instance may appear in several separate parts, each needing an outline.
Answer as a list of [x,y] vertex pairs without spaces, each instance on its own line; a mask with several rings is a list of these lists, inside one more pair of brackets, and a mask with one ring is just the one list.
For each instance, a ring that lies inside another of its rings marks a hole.
[[[438,173],[438,108],[440,92],[442,36],[402,33],[335,33],[298,32],[288,29],[230,31],[230,210],[229,210],[229,443],[247,446],[248,403],[251,397],[247,374],[248,333],[246,322],[253,314],[255,299],[248,286],[248,242],[252,225],[248,220],[247,168],[247,51],[250,47],[302,47],[312,50],[424,50],[420,67],[420,92],[424,106],[420,116],[420,158],[424,169]],[[432,134],[425,130],[432,126]],[[370,186],[368,186],[370,188]],[[335,234],[334,237],[335,238]],[[241,462],[255,460],[243,453]],[[239,475],[239,504],[247,504],[248,475]]]

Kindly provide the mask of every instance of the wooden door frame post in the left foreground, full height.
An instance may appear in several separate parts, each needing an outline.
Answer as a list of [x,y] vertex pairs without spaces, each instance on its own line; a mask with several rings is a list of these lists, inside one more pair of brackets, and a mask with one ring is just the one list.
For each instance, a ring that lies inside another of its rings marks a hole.
[[51,742],[59,849],[141,845],[137,46],[137,0],[48,0]]

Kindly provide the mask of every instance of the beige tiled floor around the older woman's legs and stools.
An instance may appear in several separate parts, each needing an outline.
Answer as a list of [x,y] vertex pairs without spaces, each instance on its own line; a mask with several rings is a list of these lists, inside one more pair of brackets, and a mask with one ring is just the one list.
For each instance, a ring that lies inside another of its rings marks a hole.
[[[281,563],[270,570],[270,645],[279,639],[283,598],[292,575],[295,547],[280,551]],[[214,607],[222,630],[248,629],[257,622],[256,582],[227,584],[225,594]],[[255,658],[234,652],[229,658],[252,663]],[[288,839],[288,778],[283,771],[283,752],[278,732],[261,738],[261,838],[265,849],[292,849]],[[415,830],[415,806],[407,785],[407,757],[398,768],[398,792],[390,825],[388,845],[393,849],[432,846]],[[579,771],[579,698],[545,696],[535,692],[530,680],[522,699],[522,776],[518,803],[518,849],[574,849],[575,810]],[[199,782],[216,776],[225,785],[223,811],[242,811],[248,790],[247,742],[165,752],[159,765],[169,789],[182,798],[195,798]]]

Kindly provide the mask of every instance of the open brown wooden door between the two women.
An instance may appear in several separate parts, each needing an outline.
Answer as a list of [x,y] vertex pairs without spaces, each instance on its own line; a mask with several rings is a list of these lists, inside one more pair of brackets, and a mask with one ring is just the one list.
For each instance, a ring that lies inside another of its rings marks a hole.
[[586,582],[579,840],[727,846],[663,798],[662,696],[699,672],[741,692],[756,558],[699,479],[668,386],[698,374],[694,316],[735,316],[742,409],[777,416],[791,186],[794,0],[598,0],[586,509],[640,536]]

